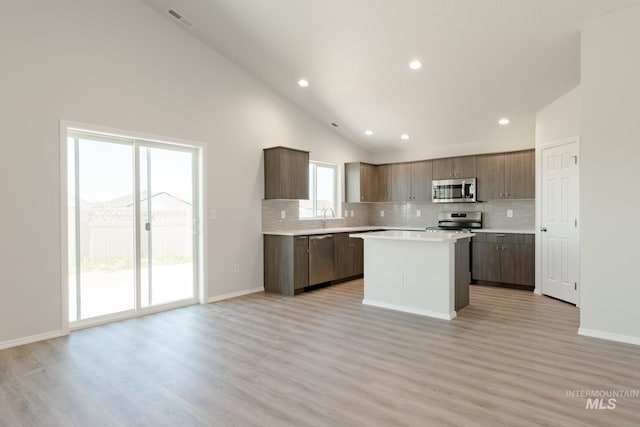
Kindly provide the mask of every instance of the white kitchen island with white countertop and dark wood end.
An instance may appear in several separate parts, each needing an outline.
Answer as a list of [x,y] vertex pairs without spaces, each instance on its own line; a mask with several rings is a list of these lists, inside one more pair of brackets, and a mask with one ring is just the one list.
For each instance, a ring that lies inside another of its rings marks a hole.
[[469,304],[472,233],[388,230],[364,240],[364,299],[376,307],[451,320]]

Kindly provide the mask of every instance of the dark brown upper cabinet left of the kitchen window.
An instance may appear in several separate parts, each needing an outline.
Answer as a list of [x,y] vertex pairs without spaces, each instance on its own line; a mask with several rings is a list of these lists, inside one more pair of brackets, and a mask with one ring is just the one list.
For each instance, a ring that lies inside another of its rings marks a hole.
[[287,147],[264,149],[264,198],[309,198],[309,152]]

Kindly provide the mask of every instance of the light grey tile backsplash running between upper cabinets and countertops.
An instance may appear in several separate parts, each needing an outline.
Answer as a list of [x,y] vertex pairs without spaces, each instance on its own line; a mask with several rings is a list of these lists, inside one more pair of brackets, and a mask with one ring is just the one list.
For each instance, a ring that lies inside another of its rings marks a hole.
[[[513,217],[507,217],[507,210]],[[285,218],[282,218],[282,211]],[[349,217],[346,215],[349,213]],[[384,211],[384,216],[380,212]],[[420,216],[418,216],[420,211]],[[481,211],[484,228],[505,230],[533,230],[535,200],[497,200],[481,203],[343,203],[341,218],[327,218],[326,226],[356,227],[379,225],[385,227],[433,227],[440,211]],[[351,213],[353,212],[353,216]],[[322,228],[322,220],[299,219],[297,200],[263,200],[262,230],[304,230]]]

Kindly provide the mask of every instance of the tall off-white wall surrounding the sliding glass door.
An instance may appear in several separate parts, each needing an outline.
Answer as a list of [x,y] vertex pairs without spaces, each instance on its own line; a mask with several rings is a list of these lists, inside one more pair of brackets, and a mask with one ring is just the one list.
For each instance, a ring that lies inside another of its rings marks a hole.
[[60,119],[207,145],[209,297],[262,286],[262,148],[367,158],[142,2],[2,9],[0,347],[61,328]]

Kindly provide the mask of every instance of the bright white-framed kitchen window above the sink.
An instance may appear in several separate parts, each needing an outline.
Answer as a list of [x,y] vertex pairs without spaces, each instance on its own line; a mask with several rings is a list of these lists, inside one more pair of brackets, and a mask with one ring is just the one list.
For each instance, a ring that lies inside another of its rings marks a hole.
[[337,217],[339,208],[338,166],[309,162],[309,199],[300,200],[300,218],[322,218],[325,209],[327,217]]

